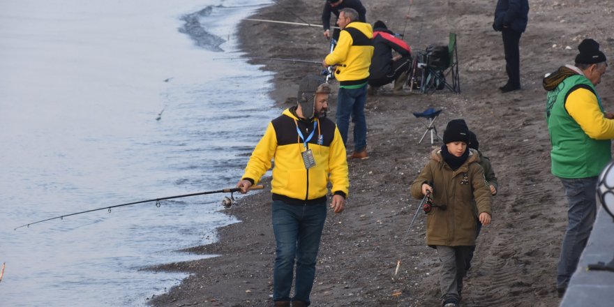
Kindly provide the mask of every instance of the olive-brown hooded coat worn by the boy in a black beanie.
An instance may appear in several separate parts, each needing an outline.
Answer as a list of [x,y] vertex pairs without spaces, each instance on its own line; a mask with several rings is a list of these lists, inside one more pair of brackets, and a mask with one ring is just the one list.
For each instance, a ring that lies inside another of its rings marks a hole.
[[[469,150],[467,161],[453,171],[444,162],[441,150],[435,149],[412,183],[412,196],[422,199],[422,184],[432,182],[433,204],[447,205],[445,210],[433,207],[426,216],[426,244],[429,246],[475,245],[476,216],[482,212],[491,214],[493,197],[486,186],[479,155]],[[473,200],[477,203],[477,212]]]

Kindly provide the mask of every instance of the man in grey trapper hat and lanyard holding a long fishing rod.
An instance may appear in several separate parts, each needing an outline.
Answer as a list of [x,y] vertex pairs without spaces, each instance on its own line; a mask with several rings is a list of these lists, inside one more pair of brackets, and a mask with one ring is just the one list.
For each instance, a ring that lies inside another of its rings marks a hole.
[[[326,118],[329,84],[320,77],[301,80],[298,105],[283,111],[267,127],[237,184],[246,193],[271,168],[274,159],[273,231],[276,258],[273,278],[275,306],[303,307],[315,278],[315,262],[327,216],[327,184],[331,183],[331,209],[343,211],[350,188],[345,145],[335,123]],[[297,264],[294,297],[290,297],[294,262]]]

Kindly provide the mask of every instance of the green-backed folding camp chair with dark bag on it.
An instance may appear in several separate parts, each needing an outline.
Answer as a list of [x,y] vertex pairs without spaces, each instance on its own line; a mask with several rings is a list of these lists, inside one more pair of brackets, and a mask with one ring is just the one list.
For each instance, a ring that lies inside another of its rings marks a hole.
[[[447,88],[453,93],[461,93],[461,79],[458,76],[458,51],[456,33],[449,34],[447,59],[436,59],[432,50],[418,54],[412,63],[412,79],[419,80],[421,93],[433,93],[435,89]],[[447,82],[447,77],[451,82]],[[412,84],[413,85],[413,84]]]

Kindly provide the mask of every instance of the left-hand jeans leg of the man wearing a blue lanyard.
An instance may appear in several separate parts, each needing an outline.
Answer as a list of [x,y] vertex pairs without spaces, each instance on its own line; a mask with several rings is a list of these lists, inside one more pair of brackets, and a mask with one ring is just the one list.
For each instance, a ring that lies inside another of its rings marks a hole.
[[299,233],[299,222],[293,209],[295,208],[291,204],[279,200],[273,201],[271,211],[277,246],[273,270],[273,301],[290,301]]

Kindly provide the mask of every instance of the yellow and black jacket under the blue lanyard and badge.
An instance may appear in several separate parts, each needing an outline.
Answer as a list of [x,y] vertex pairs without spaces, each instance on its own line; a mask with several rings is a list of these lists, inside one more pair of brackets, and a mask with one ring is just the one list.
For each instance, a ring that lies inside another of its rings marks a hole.
[[[337,126],[329,119],[301,120],[294,110],[296,107],[286,109],[269,123],[242,178],[257,184],[271,168],[273,159],[273,200],[290,204],[319,204],[326,201],[328,182],[332,184],[334,194],[347,197],[350,181],[347,179],[345,145]],[[297,128],[307,137],[314,130],[314,121],[317,121],[315,133],[305,148]],[[315,158],[315,166],[309,170],[305,168],[301,156],[306,149],[311,149]]]

